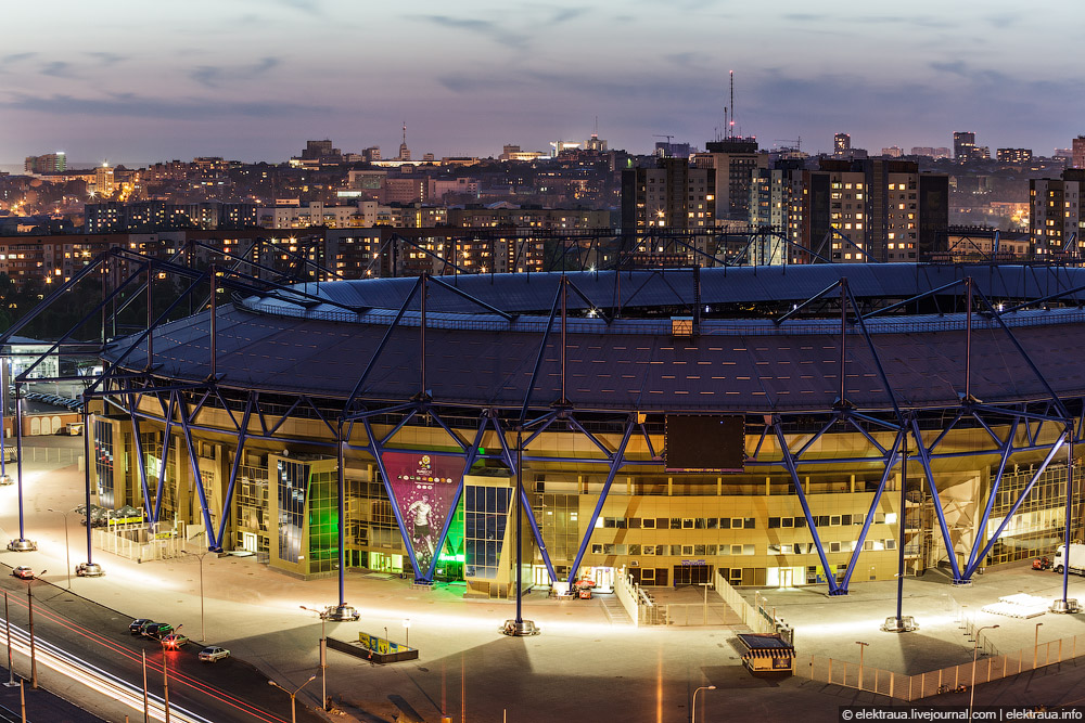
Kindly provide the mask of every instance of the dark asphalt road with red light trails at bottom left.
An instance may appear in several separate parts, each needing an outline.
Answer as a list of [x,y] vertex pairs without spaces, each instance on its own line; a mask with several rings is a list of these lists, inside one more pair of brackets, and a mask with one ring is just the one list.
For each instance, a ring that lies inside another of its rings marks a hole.
[[[7,573],[7,566],[0,566],[0,571]],[[191,643],[181,650],[164,651],[156,641],[133,636],[128,632],[131,618],[127,614],[81,598],[63,586],[43,581],[33,584],[34,632],[37,641],[52,643],[137,688],[142,688],[141,653],[145,653],[148,689],[158,697],[163,694],[165,660],[171,707],[181,707],[206,721],[285,723],[290,720],[289,696],[269,686],[267,676],[243,660],[229,658],[216,663],[203,663],[196,658],[200,647]],[[5,574],[0,579],[0,590],[9,594],[12,625],[26,630],[26,583]],[[138,601],[132,603],[133,607],[139,607]],[[153,611],[140,610],[140,615],[153,615]],[[25,659],[16,657],[15,670],[25,677],[29,676],[29,663]],[[39,674],[41,672],[39,664]],[[78,686],[69,686],[68,692],[65,692],[66,695],[78,693]],[[136,713],[129,714],[136,720]],[[47,716],[40,720],[68,719]],[[98,719],[91,716],[69,720]],[[321,719],[299,706],[297,720],[316,722]]]

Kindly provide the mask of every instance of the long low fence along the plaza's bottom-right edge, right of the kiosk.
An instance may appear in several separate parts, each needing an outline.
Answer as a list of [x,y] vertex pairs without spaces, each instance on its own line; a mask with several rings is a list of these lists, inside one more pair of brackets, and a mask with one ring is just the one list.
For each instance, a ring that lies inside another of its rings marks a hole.
[[[1081,651],[1078,651],[1081,648]],[[819,683],[843,685],[859,690],[911,701],[935,695],[945,688],[958,685],[971,686],[990,683],[1010,675],[1036,670],[1071,660],[1085,654],[1085,635],[1074,635],[1050,641],[1033,648],[1021,648],[1007,655],[994,655],[959,666],[949,666],[916,675],[905,675],[870,666],[860,667],[846,660],[834,660],[825,656],[801,656],[795,661],[795,672]],[[803,670],[803,667],[806,670]],[[940,690],[941,688],[941,690]]]

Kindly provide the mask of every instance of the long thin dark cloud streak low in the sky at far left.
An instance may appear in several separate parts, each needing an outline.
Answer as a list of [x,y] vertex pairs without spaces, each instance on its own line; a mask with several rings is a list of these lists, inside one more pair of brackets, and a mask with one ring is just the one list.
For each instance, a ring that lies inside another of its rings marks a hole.
[[106,98],[74,98],[72,95],[16,95],[0,102],[0,108],[27,111],[71,117],[73,115],[116,116],[126,118],[156,118],[169,120],[213,120],[227,117],[282,118],[329,113],[322,105],[283,102],[219,102],[206,99],[163,100],[114,93]]

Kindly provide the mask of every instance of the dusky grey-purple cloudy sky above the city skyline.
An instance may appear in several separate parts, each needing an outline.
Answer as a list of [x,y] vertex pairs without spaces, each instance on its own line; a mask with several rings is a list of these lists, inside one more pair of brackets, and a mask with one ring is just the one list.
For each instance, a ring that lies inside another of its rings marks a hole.
[[0,163],[547,151],[724,132],[879,153],[976,143],[1050,155],[1085,133],[1074,0],[14,0]]

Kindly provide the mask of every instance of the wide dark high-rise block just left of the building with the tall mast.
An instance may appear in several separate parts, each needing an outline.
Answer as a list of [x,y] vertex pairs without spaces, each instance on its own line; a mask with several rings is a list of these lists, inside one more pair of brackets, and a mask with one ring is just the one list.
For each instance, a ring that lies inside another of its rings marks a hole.
[[622,228],[647,231],[715,225],[716,177],[686,158],[658,158],[655,168],[622,172]]

